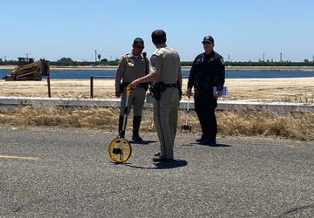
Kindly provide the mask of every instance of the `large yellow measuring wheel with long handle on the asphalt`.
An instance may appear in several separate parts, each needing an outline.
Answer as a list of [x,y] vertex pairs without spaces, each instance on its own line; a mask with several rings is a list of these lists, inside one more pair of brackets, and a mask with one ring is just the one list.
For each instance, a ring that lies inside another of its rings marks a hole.
[[123,163],[124,161],[127,161],[132,153],[132,147],[130,143],[127,141],[127,139],[124,138],[127,120],[127,103],[129,100],[130,92],[131,87],[127,86],[127,99],[125,101],[122,131],[115,139],[110,142],[108,147],[109,156],[113,161],[116,161],[117,163]]

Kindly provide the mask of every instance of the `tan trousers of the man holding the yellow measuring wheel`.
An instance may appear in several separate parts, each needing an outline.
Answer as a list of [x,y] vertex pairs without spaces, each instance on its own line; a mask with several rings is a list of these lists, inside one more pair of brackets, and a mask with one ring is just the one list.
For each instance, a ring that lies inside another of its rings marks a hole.
[[179,91],[177,88],[166,88],[161,93],[159,101],[154,99],[154,123],[163,158],[173,158],[179,104]]

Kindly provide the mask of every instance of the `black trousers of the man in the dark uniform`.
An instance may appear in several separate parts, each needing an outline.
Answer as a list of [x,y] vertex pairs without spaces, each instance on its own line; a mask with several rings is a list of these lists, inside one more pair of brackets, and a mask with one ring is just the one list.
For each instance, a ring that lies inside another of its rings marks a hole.
[[215,108],[217,99],[210,89],[197,90],[194,95],[194,108],[201,124],[202,138],[210,142],[216,142],[217,120]]

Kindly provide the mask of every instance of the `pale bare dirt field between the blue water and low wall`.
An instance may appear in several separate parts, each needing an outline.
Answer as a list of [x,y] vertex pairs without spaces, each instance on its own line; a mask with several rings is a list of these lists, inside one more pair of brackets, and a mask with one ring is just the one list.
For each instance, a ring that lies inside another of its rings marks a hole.
[[[183,92],[187,79],[183,79]],[[229,93],[220,100],[286,101],[313,103],[314,77],[226,79]],[[0,80],[0,96],[47,97],[47,81]],[[51,97],[89,98],[88,79],[51,79]],[[94,81],[95,98],[114,98],[114,80]]]

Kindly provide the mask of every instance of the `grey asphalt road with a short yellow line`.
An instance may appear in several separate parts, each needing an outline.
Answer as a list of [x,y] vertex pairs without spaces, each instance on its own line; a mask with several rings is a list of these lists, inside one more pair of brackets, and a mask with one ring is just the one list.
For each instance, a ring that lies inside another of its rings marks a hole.
[[[114,164],[116,135],[0,127],[0,217],[313,217],[314,142],[178,134],[154,164],[156,134]],[[130,137],[127,134],[127,137]]]

